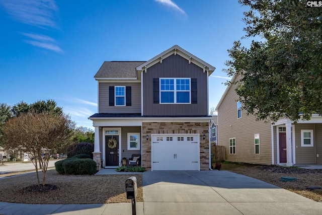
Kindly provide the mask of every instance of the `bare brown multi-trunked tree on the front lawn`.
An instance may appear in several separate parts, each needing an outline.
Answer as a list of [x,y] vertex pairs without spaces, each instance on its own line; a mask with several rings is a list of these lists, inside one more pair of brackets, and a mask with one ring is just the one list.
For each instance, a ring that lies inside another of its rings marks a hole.
[[[36,113],[29,111],[9,119],[4,127],[6,149],[24,149],[34,158],[37,184],[40,185],[38,165],[43,173],[42,185],[46,184],[46,171],[50,153],[70,144],[75,125],[68,115]],[[42,153],[45,152],[45,156]]]

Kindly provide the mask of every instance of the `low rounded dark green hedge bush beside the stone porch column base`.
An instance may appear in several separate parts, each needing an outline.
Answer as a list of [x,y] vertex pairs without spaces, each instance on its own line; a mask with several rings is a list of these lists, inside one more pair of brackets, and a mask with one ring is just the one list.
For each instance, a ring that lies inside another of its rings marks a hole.
[[65,174],[93,175],[96,173],[96,162],[90,158],[71,159],[62,164]]

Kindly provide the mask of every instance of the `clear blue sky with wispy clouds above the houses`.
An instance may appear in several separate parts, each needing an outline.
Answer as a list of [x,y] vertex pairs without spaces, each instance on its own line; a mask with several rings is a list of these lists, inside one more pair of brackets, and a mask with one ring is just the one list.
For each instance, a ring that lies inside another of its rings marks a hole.
[[216,67],[216,107],[247,10],[237,0],[0,0],[0,103],[53,99],[77,126],[92,127],[93,77],[105,60],[149,60],[179,45]]

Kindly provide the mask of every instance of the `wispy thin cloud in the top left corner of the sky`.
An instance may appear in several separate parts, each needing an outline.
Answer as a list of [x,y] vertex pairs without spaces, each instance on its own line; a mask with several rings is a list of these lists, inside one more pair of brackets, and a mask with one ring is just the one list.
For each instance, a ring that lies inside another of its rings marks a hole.
[[56,28],[54,21],[58,8],[53,0],[2,0],[6,12],[15,20],[37,27]]

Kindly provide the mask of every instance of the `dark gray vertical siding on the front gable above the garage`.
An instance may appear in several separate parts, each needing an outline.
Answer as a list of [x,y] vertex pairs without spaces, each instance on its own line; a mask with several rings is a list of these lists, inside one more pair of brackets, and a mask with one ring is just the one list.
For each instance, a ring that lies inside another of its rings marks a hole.
[[[153,104],[153,78],[197,79],[197,104]],[[171,55],[143,72],[144,116],[206,116],[208,115],[207,73],[180,55]]]

